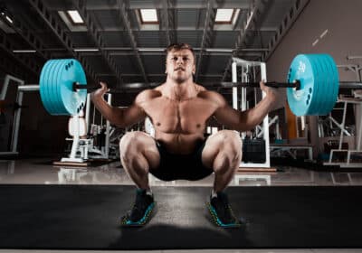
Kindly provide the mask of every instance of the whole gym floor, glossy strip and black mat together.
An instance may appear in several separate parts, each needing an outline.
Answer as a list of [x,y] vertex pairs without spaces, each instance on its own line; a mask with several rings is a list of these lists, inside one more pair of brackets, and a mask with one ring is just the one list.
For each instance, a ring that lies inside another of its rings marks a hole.
[[2,160],[0,252],[362,252],[362,173],[294,167],[238,173],[227,191],[247,221],[242,230],[220,230],[209,220],[205,201],[213,175],[195,183],[150,182],[155,217],[144,228],[121,230],[115,224],[134,187],[118,162],[65,168],[44,159]]

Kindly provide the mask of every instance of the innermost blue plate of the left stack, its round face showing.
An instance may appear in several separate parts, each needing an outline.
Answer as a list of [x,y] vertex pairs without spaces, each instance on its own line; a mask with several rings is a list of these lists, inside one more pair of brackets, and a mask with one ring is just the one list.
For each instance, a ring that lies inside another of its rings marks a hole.
[[85,105],[87,91],[73,91],[72,83],[74,81],[86,84],[85,73],[79,61],[67,59],[62,68],[62,78],[60,79],[62,85],[58,86],[65,115],[76,115],[79,113],[81,105]]

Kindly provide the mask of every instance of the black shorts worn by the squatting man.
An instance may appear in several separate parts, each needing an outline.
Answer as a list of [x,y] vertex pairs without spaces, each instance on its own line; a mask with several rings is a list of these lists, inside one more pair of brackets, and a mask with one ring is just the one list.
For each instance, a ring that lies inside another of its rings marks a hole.
[[150,169],[149,173],[163,181],[185,179],[190,181],[200,180],[213,173],[202,162],[201,155],[205,147],[205,141],[200,141],[195,146],[195,151],[189,155],[169,153],[161,142],[156,141],[160,156],[159,166]]

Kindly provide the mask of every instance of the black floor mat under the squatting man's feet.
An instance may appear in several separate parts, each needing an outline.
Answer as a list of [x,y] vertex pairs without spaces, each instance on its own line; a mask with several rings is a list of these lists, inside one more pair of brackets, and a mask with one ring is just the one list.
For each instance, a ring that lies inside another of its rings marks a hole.
[[230,187],[242,229],[216,228],[208,187],[154,187],[157,212],[119,228],[133,186],[0,185],[0,248],[360,248],[362,187]]

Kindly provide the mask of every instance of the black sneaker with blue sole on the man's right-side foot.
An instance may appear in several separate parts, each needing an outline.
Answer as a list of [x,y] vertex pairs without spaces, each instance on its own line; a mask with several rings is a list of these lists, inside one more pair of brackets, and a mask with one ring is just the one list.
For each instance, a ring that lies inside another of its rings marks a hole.
[[237,228],[242,225],[242,222],[233,215],[233,210],[230,207],[224,192],[217,192],[217,196],[210,197],[210,202],[207,202],[206,204],[214,223],[217,226],[223,228]]

